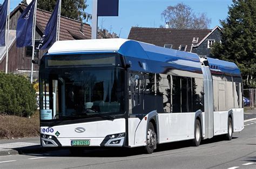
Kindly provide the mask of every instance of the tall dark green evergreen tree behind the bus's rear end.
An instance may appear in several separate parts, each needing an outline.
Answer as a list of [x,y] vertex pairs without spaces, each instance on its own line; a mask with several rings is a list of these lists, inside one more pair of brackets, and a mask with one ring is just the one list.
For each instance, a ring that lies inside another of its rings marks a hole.
[[232,61],[241,70],[245,87],[256,87],[256,1],[233,0],[223,26],[222,43],[211,49],[213,58]]

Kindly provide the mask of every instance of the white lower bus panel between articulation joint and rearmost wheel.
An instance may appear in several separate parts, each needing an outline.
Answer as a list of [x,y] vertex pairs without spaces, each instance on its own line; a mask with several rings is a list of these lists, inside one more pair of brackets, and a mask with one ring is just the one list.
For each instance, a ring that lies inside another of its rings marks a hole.
[[214,111],[214,136],[227,133],[228,111]]

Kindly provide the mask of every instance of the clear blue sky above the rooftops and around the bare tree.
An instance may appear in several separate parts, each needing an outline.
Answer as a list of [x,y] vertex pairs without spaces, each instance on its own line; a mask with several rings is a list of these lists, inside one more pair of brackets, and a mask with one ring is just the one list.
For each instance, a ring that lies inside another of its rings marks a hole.
[[[92,1],[87,0],[89,7],[86,12],[88,13],[92,12]],[[21,0],[11,0],[11,10],[20,2]],[[121,38],[127,38],[132,26],[159,27],[163,25],[161,12],[167,6],[181,2],[189,5],[196,13],[206,13],[207,17],[212,19],[210,28],[220,25],[219,19],[227,17],[228,5],[232,4],[232,0],[119,0],[119,16],[99,17],[98,26],[109,31],[112,27],[112,31],[120,33]],[[3,3],[3,0],[0,0],[0,3]]]

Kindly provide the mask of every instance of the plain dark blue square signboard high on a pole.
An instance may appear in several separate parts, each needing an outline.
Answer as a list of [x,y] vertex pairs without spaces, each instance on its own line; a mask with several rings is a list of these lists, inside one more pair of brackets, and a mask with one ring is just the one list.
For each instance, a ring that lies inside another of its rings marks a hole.
[[118,16],[119,0],[98,0],[97,16]]

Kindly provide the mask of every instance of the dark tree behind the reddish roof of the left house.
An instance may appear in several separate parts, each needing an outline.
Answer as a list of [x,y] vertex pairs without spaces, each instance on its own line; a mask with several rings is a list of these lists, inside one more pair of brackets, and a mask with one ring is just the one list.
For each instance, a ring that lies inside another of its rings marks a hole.
[[[56,0],[39,0],[37,8],[52,12]],[[85,12],[88,7],[86,0],[65,0],[62,1],[61,15],[79,21],[91,19],[91,15]]]

